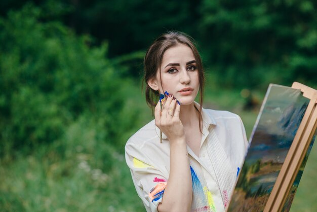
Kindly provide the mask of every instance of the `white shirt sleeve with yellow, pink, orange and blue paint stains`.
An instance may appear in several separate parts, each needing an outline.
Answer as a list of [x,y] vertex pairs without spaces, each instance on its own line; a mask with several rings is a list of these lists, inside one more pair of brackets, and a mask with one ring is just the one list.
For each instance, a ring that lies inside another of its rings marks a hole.
[[157,206],[162,202],[167,178],[153,160],[150,160],[143,148],[128,142],[125,151],[126,162],[138,196],[147,211],[156,212]]

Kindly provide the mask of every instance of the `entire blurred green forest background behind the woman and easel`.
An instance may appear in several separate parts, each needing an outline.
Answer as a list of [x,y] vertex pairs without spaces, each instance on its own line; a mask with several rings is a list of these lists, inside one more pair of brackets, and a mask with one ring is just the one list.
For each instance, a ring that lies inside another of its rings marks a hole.
[[[0,2],[0,210],[144,211],[127,139],[153,119],[146,48],[179,30],[196,41],[205,108],[239,114],[248,137],[269,83],[317,88],[317,2]],[[292,211],[315,211],[313,147]]]

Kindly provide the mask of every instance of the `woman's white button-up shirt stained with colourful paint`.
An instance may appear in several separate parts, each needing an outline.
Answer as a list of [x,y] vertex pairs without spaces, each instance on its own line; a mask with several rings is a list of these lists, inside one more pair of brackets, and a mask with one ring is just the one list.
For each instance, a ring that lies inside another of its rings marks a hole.
[[[200,154],[187,146],[191,178],[191,211],[225,211],[237,174],[248,148],[239,116],[227,111],[202,110],[203,131]],[[170,143],[154,120],[126,144],[126,161],[146,211],[157,211],[170,173]],[[181,178],[179,179],[181,181]]]

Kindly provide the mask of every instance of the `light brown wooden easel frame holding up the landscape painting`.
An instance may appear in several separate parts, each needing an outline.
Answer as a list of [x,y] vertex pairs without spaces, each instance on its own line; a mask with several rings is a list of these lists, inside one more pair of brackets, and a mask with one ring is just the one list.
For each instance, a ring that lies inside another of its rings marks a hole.
[[293,83],[292,88],[300,89],[303,96],[310,99],[310,101],[267,200],[264,212],[282,211],[317,127],[317,90],[297,82]]

